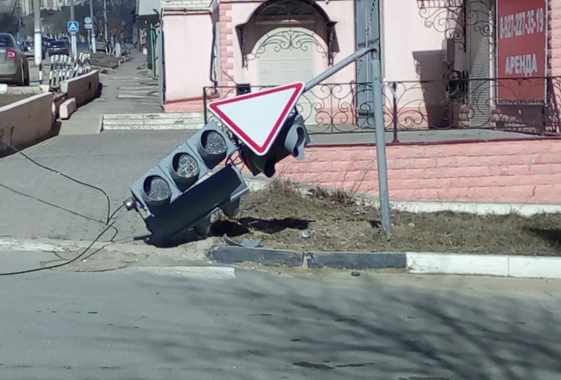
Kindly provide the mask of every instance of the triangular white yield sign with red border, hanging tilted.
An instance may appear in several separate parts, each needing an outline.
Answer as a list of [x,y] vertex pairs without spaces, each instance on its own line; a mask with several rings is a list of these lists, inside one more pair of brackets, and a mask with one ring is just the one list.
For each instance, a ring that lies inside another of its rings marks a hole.
[[303,91],[303,82],[291,83],[219,100],[208,108],[257,155],[263,156]]

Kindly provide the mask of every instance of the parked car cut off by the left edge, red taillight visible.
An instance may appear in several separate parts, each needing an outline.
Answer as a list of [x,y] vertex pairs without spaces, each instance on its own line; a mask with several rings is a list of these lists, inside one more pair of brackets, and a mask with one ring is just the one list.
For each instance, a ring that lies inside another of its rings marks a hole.
[[0,33],[0,83],[29,86],[29,62],[9,33]]

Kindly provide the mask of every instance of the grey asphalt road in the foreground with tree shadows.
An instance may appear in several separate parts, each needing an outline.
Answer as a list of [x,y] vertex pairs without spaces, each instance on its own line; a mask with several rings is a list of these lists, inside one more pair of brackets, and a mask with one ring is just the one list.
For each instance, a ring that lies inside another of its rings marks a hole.
[[557,380],[559,289],[165,267],[0,277],[0,378]]

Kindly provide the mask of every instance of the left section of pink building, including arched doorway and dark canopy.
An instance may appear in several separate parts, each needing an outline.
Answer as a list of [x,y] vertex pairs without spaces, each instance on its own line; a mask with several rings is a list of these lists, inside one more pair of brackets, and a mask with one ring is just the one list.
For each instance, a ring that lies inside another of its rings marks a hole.
[[[355,50],[352,0],[164,0],[162,7],[166,111],[202,111],[205,86],[235,92],[236,84],[306,81]],[[349,67],[330,81],[355,76]]]

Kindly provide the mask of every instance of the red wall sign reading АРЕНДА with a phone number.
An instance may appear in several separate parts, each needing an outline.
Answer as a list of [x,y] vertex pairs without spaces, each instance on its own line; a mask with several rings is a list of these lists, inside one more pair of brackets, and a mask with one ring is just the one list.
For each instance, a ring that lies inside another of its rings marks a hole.
[[543,101],[547,0],[497,0],[499,99]]

